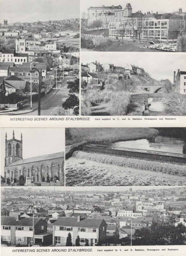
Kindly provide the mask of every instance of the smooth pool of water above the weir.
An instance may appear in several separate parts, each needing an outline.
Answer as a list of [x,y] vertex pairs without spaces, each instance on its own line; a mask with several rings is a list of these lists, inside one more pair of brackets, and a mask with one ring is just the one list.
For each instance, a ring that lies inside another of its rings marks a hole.
[[170,138],[166,136],[157,136],[153,139],[119,141],[110,144],[114,147],[135,148],[143,150],[154,150],[161,152],[186,154],[186,140]]

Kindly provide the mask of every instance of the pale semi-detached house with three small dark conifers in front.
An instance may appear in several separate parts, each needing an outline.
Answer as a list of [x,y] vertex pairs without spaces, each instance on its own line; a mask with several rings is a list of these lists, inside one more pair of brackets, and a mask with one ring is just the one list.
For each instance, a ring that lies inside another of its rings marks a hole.
[[65,246],[68,233],[72,236],[72,244],[75,244],[77,236],[80,237],[80,245],[84,246],[86,239],[90,246],[105,243],[106,222],[98,219],[82,219],[59,217],[53,225],[53,245]]

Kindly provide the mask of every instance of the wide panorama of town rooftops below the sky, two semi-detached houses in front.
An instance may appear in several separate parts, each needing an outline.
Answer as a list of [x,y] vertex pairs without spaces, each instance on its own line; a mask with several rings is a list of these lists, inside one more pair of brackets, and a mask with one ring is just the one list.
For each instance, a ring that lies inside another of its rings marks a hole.
[[[1,242],[7,246],[142,245],[142,231],[148,230],[150,236],[160,226],[171,229],[173,236],[178,232],[179,244],[185,244],[186,188],[133,190],[2,188]],[[174,244],[172,238],[164,239],[164,244]]]

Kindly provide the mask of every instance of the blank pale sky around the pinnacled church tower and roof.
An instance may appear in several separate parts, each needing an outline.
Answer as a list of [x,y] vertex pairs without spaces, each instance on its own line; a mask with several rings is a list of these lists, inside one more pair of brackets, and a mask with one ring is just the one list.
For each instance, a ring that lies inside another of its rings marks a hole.
[[1,175],[4,176],[5,134],[21,140],[23,135],[23,159],[63,152],[65,150],[64,128],[1,128]]

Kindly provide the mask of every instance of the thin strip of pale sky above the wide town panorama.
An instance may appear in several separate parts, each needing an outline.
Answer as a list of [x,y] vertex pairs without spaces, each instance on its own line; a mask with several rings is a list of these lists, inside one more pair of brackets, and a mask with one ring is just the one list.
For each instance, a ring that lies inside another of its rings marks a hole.
[[[14,187],[17,188],[17,187]],[[106,191],[129,191],[130,187],[55,187],[55,191],[59,190],[60,192],[65,192],[65,191],[97,191],[99,192],[106,192]],[[180,186],[132,186],[132,191],[136,191],[136,190],[151,190],[151,189],[170,189],[170,188],[181,188]],[[182,187],[183,188],[183,187]],[[186,187],[184,187],[186,188]],[[20,187],[18,187],[17,189],[20,189]],[[28,189],[26,187],[24,187],[23,189]],[[38,188],[38,187],[32,187],[32,189],[48,189],[48,190],[53,190],[54,191],[54,187],[44,187],[44,188]],[[4,190],[4,187],[1,188],[1,190]]]

